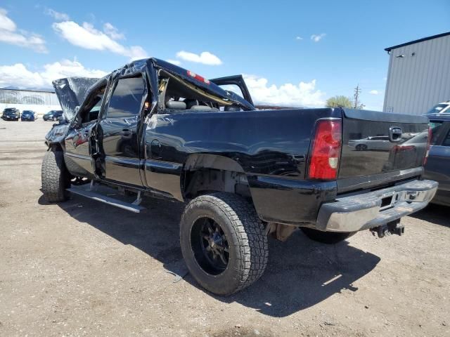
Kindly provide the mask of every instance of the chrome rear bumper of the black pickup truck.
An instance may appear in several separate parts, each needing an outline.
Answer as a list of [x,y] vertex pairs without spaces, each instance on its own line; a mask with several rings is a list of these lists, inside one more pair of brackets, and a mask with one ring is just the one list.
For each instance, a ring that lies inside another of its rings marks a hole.
[[338,197],[335,202],[321,206],[316,228],[356,232],[385,225],[427,206],[437,185],[432,180],[413,180],[383,190]]

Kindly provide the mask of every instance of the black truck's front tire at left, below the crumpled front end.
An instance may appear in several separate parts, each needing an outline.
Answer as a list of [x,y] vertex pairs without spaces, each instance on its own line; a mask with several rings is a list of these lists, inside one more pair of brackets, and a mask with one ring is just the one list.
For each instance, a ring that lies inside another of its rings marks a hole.
[[41,169],[42,192],[49,202],[60,202],[68,199],[70,173],[65,167],[62,151],[47,151],[42,160]]

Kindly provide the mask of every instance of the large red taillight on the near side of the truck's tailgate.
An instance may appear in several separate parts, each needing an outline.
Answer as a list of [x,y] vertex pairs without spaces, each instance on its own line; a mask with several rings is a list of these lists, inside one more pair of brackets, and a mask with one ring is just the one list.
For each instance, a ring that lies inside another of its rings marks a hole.
[[338,177],[342,123],[340,119],[320,119],[309,155],[309,179],[335,179]]

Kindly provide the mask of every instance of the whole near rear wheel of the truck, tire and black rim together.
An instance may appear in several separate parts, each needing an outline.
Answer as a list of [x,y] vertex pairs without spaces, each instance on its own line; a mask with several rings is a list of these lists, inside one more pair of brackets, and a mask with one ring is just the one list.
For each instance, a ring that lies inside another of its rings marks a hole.
[[250,286],[262,276],[269,258],[255,209],[231,193],[205,194],[189,202],[181,217],[180,243],[191,275],[219,295]]

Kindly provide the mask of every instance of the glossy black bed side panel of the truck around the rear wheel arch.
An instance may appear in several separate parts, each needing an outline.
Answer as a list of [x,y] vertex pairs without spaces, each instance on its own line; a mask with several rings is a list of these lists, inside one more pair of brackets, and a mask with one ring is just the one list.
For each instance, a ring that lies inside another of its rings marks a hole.
[[[311,132],[317,119],[341,116],[339,109],[155,114],[146,128],[148,187],[174,189],[189,155],[216,154],[246,173],[260,218],[315,220],[318,203],[335,195],[335,183],[324,189],[304,180]],[[181,187],[167,192],[183,198]]]

